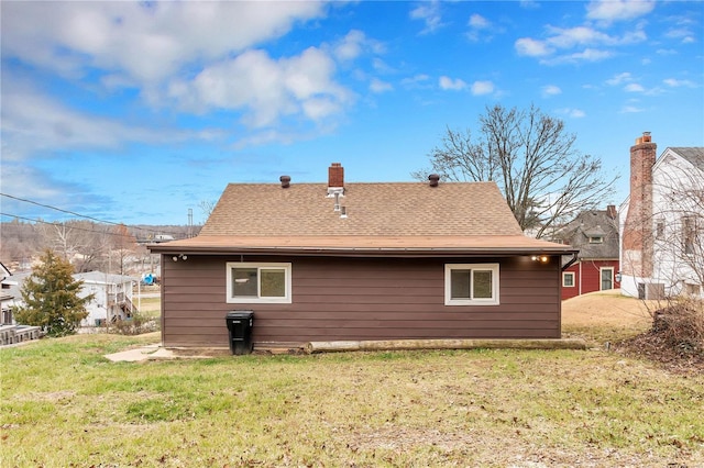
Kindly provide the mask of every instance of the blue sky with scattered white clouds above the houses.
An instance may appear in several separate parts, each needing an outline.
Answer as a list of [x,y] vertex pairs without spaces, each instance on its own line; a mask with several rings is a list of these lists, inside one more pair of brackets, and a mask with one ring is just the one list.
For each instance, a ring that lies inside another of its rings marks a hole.
[[[531,103],[619,174],[704,146],[704,3],[0,3],[1,212],[196,224],[229,182],[407,181],[447,127]],[[10,221],[11,216],[2,216]]]

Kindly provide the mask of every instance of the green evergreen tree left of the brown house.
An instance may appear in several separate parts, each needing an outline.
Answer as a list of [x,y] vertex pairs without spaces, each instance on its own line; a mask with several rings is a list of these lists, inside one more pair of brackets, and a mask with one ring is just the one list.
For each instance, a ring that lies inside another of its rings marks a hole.
[[44,250],[40,261],[24,281],[21,291],[24,307],[15,312],[15,320],[41,326],[50,336],[74,334],[88,316],[86,303],[95,294],[78,296],[82,281],[74,280],[74,267],[51,249]]

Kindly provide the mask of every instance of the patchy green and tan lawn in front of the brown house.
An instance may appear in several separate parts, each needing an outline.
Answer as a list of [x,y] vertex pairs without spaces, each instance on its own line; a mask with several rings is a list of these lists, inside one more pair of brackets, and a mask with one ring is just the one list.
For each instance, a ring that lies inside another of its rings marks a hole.
[[704,376],[613,353],[103,357],[157,341],[1,349],[0,466],[704,466]]

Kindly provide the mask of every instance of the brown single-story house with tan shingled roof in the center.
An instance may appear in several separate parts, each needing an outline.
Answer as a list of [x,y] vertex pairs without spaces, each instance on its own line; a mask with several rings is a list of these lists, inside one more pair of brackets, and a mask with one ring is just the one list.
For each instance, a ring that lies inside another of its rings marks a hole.
[[230,183],[199,235],[162,255],[164,346],[559,338],[566,245],[522,235],[494,182]]

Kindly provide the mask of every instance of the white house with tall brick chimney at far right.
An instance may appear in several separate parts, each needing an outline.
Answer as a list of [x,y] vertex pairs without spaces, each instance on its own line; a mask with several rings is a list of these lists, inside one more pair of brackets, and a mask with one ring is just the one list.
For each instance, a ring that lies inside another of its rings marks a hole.
[[704,298],[704,147],[668,147],[649,132],[630,148],[630,194],[619,208],[622,292]]

